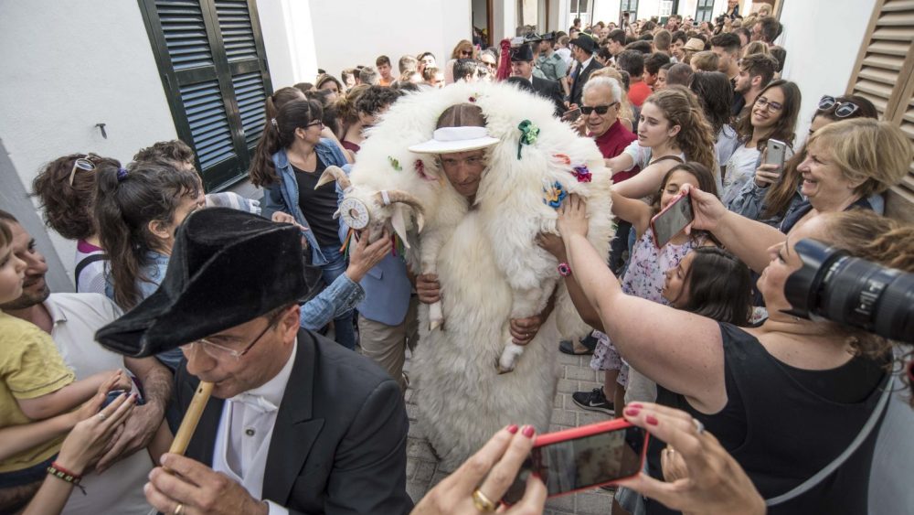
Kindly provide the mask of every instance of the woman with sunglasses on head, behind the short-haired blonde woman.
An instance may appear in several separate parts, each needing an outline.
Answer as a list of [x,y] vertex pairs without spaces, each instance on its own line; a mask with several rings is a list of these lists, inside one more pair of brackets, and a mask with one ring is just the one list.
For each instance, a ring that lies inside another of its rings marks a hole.
[[[863,97],[852,95],[835,98],[826,95],[819,101],[818,109],[813,115],[809,135],[812,136],[830,123],[855,118],[876,120],[878,117],[876,106]],[[777,165],[759,165],[754,179],[748,181],[739,191],[739,195],[728,206],[729,209],[771,227],[781,227],[784,216],[806,201],[802,193],[803,177],[800,167],[806,161],[807,145],[808,141],[795,156],[784,163],[782,171]],[[866,201],[870,209],[881,213],[883,202],[880,193],[881,191],[875,191]]]

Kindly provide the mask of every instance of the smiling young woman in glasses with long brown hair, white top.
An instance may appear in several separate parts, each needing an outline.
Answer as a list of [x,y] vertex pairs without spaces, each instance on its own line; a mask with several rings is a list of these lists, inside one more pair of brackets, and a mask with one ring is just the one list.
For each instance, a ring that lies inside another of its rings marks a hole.
[[749,115],[737,123],[739,146],[724,168],[720,200],[728,208],[749,182],[759,164],[761,151],[769,139],[788,145],[786,158],[793,155],[793,131],[800,112],[800,88],[789,80],[775,80],[759,93]]

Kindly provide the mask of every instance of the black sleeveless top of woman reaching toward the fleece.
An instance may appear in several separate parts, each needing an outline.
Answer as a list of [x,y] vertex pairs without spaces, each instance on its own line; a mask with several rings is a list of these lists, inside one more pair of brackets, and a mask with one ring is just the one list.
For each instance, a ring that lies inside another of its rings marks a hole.
[[[657,402],[691,413],[705,424],[763,498],[780,496],[822,470],[856,438],[882,393],[886,361],[853,358],[836,369],[800,370],[771,356],[739,327],[720,324],[720,333],[727,405],[713,415],[698,413],[683,395],[660,385]],[[877,425],[834,474],[768,513],[866,513],[878,433]],[[652,440],[648,451],[650,473],[661,479],[664,446]],[[675,513],[652,500],[647,512]]]

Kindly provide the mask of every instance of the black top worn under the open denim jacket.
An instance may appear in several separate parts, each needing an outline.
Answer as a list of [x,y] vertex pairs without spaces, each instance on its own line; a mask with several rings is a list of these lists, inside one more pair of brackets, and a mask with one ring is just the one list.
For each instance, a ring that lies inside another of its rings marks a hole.
[[317,156],[317,168],[314,172],[306,172],[291,164],[290,166],[295,172],[295,180],[298,181],[298,207],[302,209],[304,220],[308,220],[317,242],[322,247],[339,246],[340,224],[334,219],[337,209],[336,183],[331,181],[321,188],[314,189],[317,180],[324,173],[324,168],[327,167],[321,156]]

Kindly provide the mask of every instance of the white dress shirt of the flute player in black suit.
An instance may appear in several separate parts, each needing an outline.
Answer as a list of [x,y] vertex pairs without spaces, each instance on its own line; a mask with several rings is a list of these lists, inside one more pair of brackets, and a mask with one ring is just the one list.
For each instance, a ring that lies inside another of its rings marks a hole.
[[[296,339],[292,355],[282,370],[260,387],[228,399],[219,420],[213,470],[238,482],[254,499],[260,499],[263,493],[263,475],[267,467],[273,426],[276,424],[282,395],[292,375],[297,352]],[[271,515],[289,513],[289,510],[275,502],[263,500],[267,501]]]

